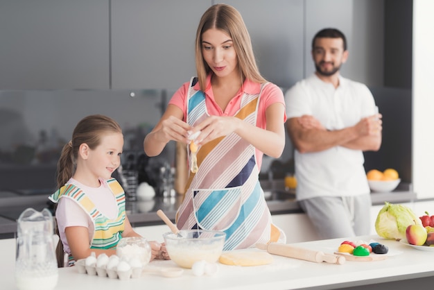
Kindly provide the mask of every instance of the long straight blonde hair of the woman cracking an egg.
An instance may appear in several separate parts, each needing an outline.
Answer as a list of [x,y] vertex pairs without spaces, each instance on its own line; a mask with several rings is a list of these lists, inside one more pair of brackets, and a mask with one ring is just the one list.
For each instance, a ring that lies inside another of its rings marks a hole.
[[240,12],[232,6],[216,4],[202,15],[196,32],[196,71],[202,91],[206,89],[207,74],[211,71],[202,55],[202,33],[210,28],[216,28],[231,37],[243,79],[248,78],[255,83],[266,83],[267,80],[259,73],[252,41]]

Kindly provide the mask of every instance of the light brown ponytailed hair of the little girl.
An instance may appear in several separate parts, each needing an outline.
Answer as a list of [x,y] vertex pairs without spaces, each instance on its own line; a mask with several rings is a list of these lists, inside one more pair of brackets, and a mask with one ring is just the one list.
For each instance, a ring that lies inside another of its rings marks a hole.
[[101,143],[101,136],[107,133],[122,133],[119,123],[110,117],[94,114],[81,119],[72,133],[72,139],[62,148],[56,172],[58,188],[62,187],[76,171],[78,149],[85,143],[94,149]]

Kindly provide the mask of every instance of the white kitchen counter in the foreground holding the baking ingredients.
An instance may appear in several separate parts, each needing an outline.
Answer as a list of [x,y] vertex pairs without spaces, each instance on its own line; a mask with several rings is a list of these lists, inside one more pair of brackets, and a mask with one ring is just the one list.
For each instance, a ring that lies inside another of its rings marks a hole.
[[[420,289],[434,285],[434,252],[417,250],[399,241],[376,235],[350,239],[374,239],[389,247],[387,259],[374,262],[327,264],[275,256],[266,266],[226,266],[218,264],[214,276],[195,276],[186,269],[179,278],[164,278],[144,273],[141,278],[118,280],[78,273],[76,267],[60,268],[58,290],[118,289]],[[329,239],[293,244],[303,248],[333,253],[344,239]],[[1,246],[0,288],[15,287],[15,239],[3,239]],[[151,262],[152,266],[174,266],[172,261]],[[427,284],[429,283],[429,284]],[[420,285],[420,286],[419,286]],[[390,288],[389,288],[390,287]],[[43,289],[43,288],[42,288]]]

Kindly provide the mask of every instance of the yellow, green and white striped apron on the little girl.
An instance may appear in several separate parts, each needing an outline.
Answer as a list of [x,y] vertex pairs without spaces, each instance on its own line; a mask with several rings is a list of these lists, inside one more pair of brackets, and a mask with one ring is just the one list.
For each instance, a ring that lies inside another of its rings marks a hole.
[[[107,180],[107,185],[114,194],[118,206],[118,215],[115,219],[108,219],[107,216],[101,214],[85,192],[76,185],[64,185],[49,197],[53,203],[58,203],[60,198],[71,198],[85,210],[93,221],[95,229],[90,248],[116,248],[125,228],[125,192],[115,178]],[[69,265],[74,262],[73,257],[69,255]]]

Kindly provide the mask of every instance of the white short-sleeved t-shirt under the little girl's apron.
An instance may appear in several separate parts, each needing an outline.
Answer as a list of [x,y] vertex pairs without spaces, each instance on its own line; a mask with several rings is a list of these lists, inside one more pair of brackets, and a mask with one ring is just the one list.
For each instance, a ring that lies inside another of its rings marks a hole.
[[[76,185],[82,189],[101,214],[107,216],[109,219],[114,219],[118,214],[116,198],[112,194],[107,182],[102,179],[100,179],[100,182],[100,187],[88,187],[71,178],[68,180],[67,184]],[[66,253],[71,253],[67,237],[64,234],[64,230],[67,227],[81,226],[88,228],[89,243],[92,241],[94,237],[94,223],[92,219],[90,219],[89,214],[87,214],[76,201],[67,197],[60,198],[57,210],[55,211],[55,218],[58,223],[60,239],[62,240],[63,248]]]

